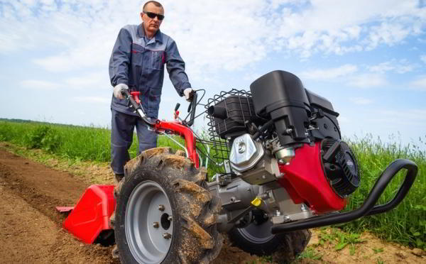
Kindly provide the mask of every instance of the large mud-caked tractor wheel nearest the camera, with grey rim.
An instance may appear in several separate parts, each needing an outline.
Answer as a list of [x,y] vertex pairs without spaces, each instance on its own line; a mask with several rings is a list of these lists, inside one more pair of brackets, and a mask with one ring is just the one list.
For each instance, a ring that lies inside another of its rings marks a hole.
[[121,263],[209,263],[219,255],[220,199],[197,170],[169,148],[146,150],[125,166],[114,232]]

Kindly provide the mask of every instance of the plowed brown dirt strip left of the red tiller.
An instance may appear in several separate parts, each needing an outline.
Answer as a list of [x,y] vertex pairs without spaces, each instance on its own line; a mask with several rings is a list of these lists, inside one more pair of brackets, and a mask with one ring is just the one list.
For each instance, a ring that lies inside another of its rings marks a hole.
[[84,245],[61,229],[56,205],[72,205],[85,184],[0,150],[0,263],[113,263],[111,248]]

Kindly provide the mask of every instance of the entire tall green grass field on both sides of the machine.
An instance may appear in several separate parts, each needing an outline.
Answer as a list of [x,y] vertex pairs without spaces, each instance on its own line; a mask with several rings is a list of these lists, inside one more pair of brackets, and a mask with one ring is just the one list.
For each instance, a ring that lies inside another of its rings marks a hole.
[[[70,160],[109,162],[110,137],[107,128],[67,126],[32,121],[0,121],[0,141],[8,141],[26,148],[38,148]],[[426,138],[425,138],[426,140]],[[373,187],[381,172],[393,160],[408,158],[417,163],[419,171],[413,187],[404,201],[392,211],[367,216],[341,226],[346,231],[372,231],[389,241],[398,241],[426,249],[426,152],[422,138],[413,145],[383,143],[379,138],[346,138],[357,156],[361,169],[361,186],[351,195],[346,210],[356,209]],[[180,143],[183,143],[180,140]],[[179,146],[165,136],[158,138],[158,146]],[[133,137],[131,157],[137,153],[137,138]],[[209,169],[212,174],[214,169]],[[210,175],[211,176],[211,175]],[[391,200],[402,182],[405,172],[400,172],[381,197],[381,203]]]

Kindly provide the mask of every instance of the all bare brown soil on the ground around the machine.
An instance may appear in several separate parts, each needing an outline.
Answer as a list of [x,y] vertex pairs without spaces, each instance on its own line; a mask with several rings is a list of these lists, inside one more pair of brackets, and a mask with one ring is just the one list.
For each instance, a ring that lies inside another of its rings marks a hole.
[[[83,165],[77,173],[84,171],[82,177],[64,172],[56,160],[48,161],[57,168],[53,169],[9,153],[7,148],[0,144],[0,263],[119,263],[111,258],[111,246],[84,244],[62,229],[65,216],[55,209],[74,204],[93,182],[93,175],[112,184],[107,165]],[[361,236],[365,241],[352,252],[349,246],[335,251],[332,241],[319,246],[320,231],[312,233],[310,251],[320,260],[304,258],[296,263],[426,263],[424,251],[383,243],[370,233]],[[225,242],[213,263],[268,263],[267,259]]]

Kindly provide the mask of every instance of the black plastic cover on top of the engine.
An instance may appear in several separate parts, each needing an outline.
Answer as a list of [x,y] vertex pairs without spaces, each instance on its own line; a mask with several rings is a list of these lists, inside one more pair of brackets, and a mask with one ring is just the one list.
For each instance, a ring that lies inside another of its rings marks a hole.
[[256,79],[250,90],[256,114],[273,119],[281,145],[341,139],[332,103],[305,89],[296,75],[275,70]]

